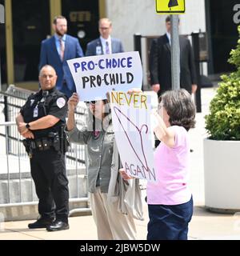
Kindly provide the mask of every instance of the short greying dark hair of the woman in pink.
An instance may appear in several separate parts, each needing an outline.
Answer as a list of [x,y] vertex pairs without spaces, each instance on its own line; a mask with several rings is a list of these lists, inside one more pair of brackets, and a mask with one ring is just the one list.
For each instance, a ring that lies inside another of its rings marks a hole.
[[186,130],[194,128],[196,107],[185,89],[168,90],[160,96],[159,102],[165,107],[171,126],[182,126]]

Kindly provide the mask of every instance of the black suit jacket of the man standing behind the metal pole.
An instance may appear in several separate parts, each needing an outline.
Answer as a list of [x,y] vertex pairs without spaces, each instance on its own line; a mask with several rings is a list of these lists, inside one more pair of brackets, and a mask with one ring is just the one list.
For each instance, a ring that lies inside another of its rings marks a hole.
[[[192,84],[197,83],[194,66],[194,54],[190,41],[179,36],[180,45],[180,86],[191,94]],[[150,82],[160,84],[158,95],[172,89],[171,83],[171,52],[166,34],[154,39],[150,47]]]

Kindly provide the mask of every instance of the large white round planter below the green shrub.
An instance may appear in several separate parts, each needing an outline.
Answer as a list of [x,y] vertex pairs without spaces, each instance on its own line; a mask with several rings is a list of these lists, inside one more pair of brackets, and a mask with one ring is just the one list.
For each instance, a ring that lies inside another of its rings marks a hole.
[[240,211],[240,141],[205,139],[203,151],[206,208]]

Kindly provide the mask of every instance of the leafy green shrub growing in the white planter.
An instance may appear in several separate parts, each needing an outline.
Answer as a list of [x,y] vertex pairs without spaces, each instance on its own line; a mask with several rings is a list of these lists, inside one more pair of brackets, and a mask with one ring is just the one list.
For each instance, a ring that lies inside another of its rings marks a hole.
[[[238,34],[240,38],[240,26]],[[236,66],[236,71],[221,76],[222,82],[210,102],[210,114],[205,117],[206,130],[215,140],[240,140],[240,39],[228,62]]]

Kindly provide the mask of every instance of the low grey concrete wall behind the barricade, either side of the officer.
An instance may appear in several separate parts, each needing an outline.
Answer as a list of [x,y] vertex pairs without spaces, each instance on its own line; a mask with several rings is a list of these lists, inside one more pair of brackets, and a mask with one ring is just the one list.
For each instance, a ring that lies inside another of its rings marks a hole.
[[[83,198],[87,198],[85,169],[78,169],[78,179],[75,170],[67,170],[69,180],[70,210],[75,211],[76,215],[90,214],[88,202],[83,202]],[[1,218],[4,221],[26,220],[38,217],[38,197],[35,193],[34,182],[30,179],[30,173],[23,173],[21,180],[20,200],[20,183],[19,179],[10,175],[10,182],[4,178],[4,174],[0,174],[0,224]],[[10,203],[8,203],[8,186],[10,186]],[[81,208],[81,210],[79,210]]]

